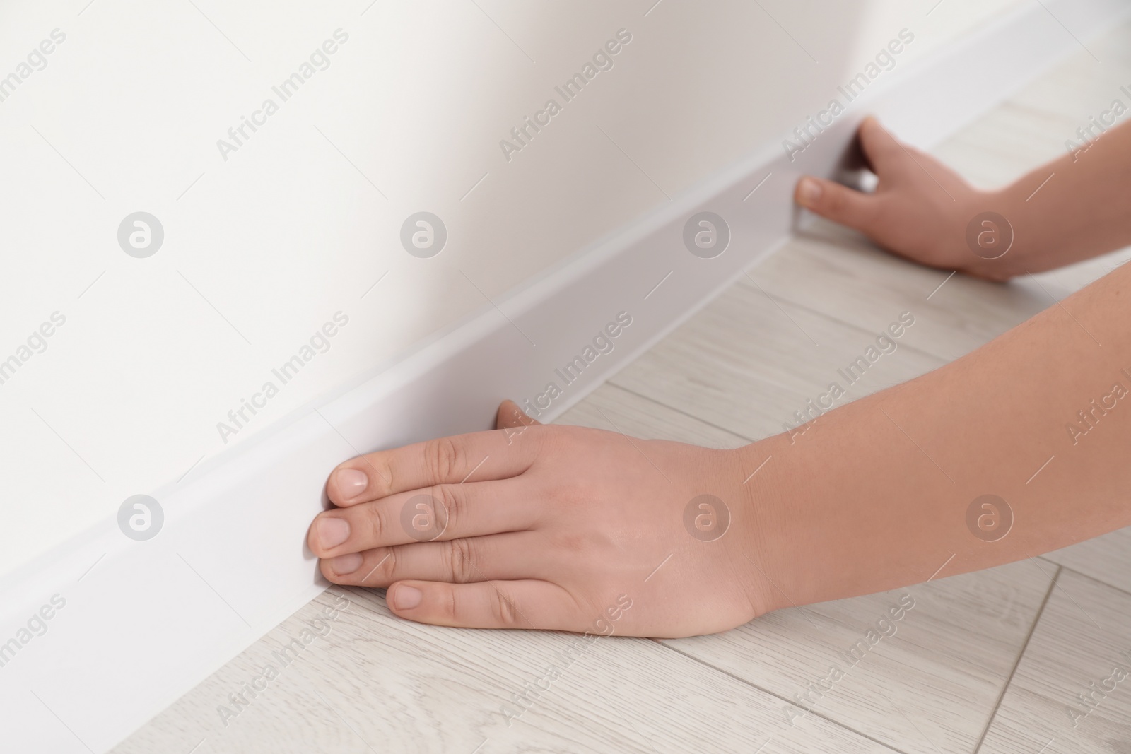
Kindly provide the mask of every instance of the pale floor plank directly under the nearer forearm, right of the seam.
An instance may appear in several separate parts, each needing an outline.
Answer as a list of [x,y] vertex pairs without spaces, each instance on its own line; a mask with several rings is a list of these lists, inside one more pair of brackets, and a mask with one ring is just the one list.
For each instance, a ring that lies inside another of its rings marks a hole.
[[788,700],[794,725],[820,716],[904,752],[973,752],[1053,570],[1015,563],[665,643]]

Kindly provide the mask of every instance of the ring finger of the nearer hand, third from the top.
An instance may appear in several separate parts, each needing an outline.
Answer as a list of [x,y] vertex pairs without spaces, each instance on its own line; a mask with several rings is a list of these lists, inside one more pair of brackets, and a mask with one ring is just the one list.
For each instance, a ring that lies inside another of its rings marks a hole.
[[319,565],[334,583],[359,587],[388,587],[405,579],[449,583],[530,579],[541,575],[535,566],[539,561],[530,557],[533,541],[526,531],[424,541],[322,558]]

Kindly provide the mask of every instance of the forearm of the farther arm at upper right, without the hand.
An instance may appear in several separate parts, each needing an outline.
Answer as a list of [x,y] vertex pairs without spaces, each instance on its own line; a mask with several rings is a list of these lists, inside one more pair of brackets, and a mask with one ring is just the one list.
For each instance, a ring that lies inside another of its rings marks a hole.
[[984,205],[1004,216],[1015,233],[1009,253],[987,266],[1013,276],[1131,244],[1131,123],[991,192]]

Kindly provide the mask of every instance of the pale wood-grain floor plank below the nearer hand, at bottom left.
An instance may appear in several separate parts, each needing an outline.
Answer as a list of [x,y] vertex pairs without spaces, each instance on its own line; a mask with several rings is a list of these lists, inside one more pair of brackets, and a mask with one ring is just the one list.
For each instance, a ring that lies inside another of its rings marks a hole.
[[649,640],[425,626],[334,588],[114,752],[890,752],[824,720],[789,728],[779,707]]

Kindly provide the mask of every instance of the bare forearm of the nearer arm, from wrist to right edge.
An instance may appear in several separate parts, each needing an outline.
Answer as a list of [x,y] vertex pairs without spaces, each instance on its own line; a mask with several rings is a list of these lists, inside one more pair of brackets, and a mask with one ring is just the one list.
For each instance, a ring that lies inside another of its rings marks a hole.
[[[1124,267],[964,358],[739,451],[749,468],[772,454],[746,487],[751,552],[780,588],[775,607],[917,583],[943,563],[940,577],[1009,563],[1131,525],[1129,297]],[[996,541],[967,526],[985,494],[1013,514]]]

